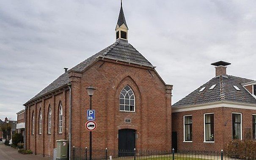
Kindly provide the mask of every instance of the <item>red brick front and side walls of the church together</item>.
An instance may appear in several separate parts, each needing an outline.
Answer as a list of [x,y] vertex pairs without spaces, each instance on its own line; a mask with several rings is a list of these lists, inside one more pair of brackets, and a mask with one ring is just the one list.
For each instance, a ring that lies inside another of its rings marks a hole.
[[[108,62],[109,61],[109,62]],[[72,146],[89,146],[85,129],[89,96],[86,88],[97,88],[92,97],[97,129],[93,131],[94,149],[118,149],[118,129],[136,130],[137,149],[171,149],[171,86],[165,86],[152,68],[97,61],[83,73],[69,73],[72,82]],[[119,95],[129,85],[135,93],[135,113],[119,111]],[[168,89],[166,89],[166,87]],[[58,107],[63,107],[63,133],[58,133]],[[52,109],[52,133],[48,134],[48,109]],[[43,111],[43,134],[39,135],[39,110]],[[35,135],[31,135],[32,113],[36,115]],[[53,155],[56,140],[69,138],[69,90],[48,95],[26,109],[27,148],[45,156]],[[124,122],[125,118],[131,123]]]

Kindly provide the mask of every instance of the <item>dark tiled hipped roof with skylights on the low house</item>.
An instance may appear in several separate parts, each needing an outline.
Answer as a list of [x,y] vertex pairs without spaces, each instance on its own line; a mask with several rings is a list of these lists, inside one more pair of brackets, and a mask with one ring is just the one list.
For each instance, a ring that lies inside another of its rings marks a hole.
[[[172,107],[190,106],[217,101],[232,101],[240,103],[256,104],[256,99],[242,86],[243,83],[253,81],[236,76],[218,76],[206,82],[186,97],[173,104]],[[209,88],[216,84],[215,88]],[[233,86],[237,86],[241,91],[237,91]],[[202,92],[198,92],[202,87],[206,87]]]

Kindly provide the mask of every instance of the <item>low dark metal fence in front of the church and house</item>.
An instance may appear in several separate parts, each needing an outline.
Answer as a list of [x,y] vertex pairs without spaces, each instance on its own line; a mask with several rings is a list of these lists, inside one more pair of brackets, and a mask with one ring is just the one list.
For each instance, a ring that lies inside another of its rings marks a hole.
[[[153,150],[93,150],[92,160],[235,160],[220,152],[206,151],[153,151]],[[255,158],[245,158],[256,160]],[[89,149],[73,148],[72,160],[89,160]]]

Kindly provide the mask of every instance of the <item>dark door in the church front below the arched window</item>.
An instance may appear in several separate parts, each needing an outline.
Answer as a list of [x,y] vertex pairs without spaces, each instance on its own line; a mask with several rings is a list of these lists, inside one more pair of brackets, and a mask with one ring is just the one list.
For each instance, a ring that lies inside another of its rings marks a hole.
[[122,129],[118,130],[118,156],[133,156],[135,149],[135,130]]

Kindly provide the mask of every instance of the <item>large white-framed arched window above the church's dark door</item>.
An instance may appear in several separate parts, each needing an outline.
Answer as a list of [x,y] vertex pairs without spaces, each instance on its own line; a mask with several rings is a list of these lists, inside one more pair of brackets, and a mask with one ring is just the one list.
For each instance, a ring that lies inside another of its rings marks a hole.
[[119,102],[120,111],[135,111],[135,96],[131,87],[128,85],[122,89]]

